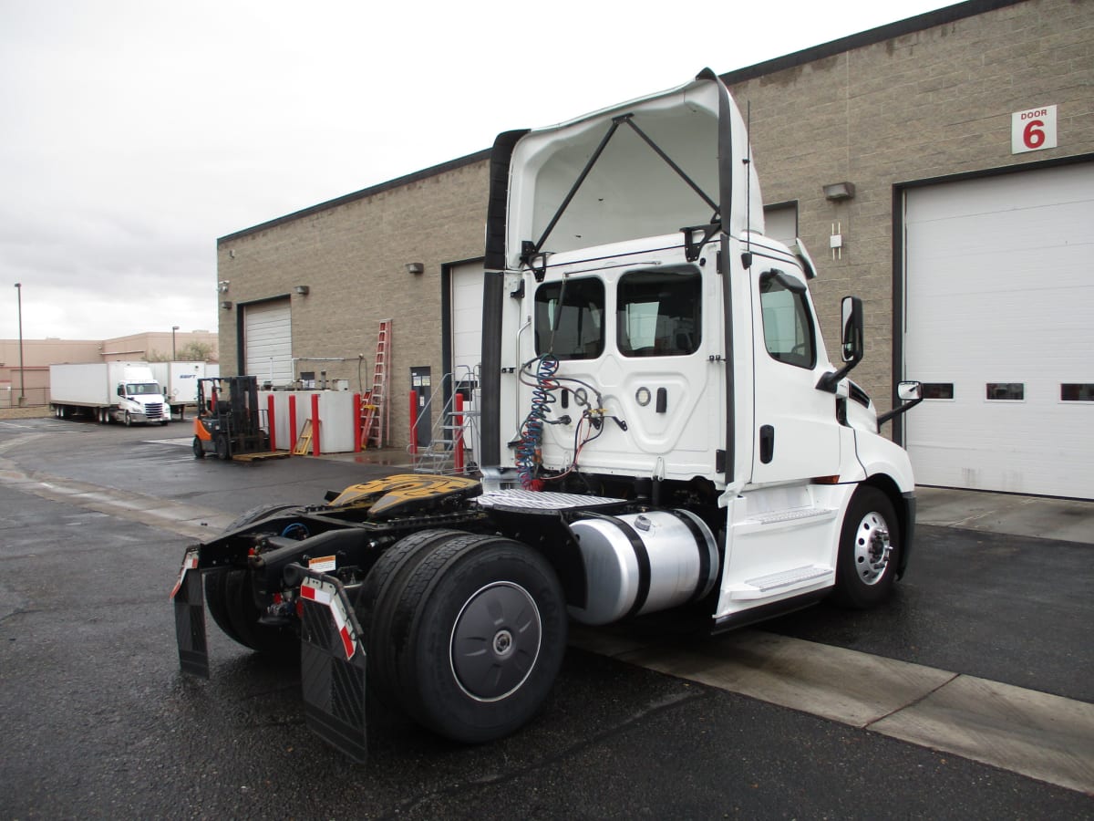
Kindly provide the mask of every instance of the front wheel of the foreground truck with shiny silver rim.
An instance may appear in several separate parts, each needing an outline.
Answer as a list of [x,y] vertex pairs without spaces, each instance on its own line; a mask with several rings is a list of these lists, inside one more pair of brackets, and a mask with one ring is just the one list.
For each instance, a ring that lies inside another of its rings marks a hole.
[[875,487],[860,487],[843,518],[833,599],[865,609],[888,597],[900,547],[900,525],[888,497]]

